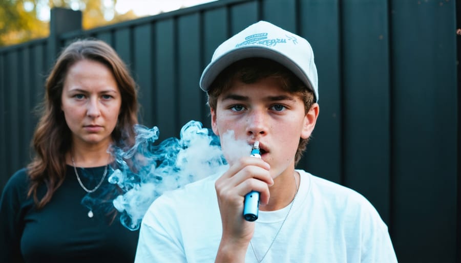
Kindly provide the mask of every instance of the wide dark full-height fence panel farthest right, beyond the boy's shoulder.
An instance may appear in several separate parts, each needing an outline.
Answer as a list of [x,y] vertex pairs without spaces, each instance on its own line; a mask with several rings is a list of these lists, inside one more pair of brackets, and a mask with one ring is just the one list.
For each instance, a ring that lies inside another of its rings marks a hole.
[[454,262],[455,2],[391,7],[394,247],[402,262]]

